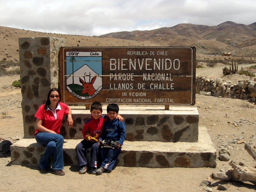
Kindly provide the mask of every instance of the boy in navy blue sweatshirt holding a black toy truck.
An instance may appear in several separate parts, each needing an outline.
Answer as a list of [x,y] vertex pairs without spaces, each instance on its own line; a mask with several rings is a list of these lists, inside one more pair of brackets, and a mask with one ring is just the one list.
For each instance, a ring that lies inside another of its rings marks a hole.
[[111,103],[107,106],[108,120],[104,123],[103,132],[99,138],[99,144],[105,139],[117,141],[117,147],[114,149],[103,147],[100,148],[101,158],[103,160],[101,167],[97,170],[97,174],[100,175],[103,172],[110,173],[112,168],[121,152],[121,146],[126,137],[124,122],[116,119],[118,115],[119,107],[115,103]]

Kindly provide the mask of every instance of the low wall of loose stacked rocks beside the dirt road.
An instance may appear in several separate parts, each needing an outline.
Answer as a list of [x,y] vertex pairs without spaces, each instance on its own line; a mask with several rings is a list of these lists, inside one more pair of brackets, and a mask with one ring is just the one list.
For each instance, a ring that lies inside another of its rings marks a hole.
[[256,79],[239,80],[237,83],[207,76],[196,77],[196,93],[201,91],[215,97],[228,97],[256,101]]

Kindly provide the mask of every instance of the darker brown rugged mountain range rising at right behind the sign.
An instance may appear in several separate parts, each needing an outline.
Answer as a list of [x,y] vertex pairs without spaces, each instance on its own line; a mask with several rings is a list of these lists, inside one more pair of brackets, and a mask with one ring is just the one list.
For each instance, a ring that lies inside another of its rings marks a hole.
[[195,46],[197,52],[203,54],[233,52],[233,55],[252,57],[256,49],[256,22],[244,25],[227,21],[217,26],[183,23],[154,30],[109,33],[100,37],[149,41],[164,46]]

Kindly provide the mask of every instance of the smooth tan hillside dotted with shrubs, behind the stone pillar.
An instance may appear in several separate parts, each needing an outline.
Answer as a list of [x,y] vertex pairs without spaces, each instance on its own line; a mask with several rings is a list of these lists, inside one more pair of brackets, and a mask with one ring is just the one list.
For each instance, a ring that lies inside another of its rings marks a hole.
[[161,46],[154,42],[141,42],[115,38],[91,37],[82,35],[66,35],[43,33],[0,26],[0,62],[19,62],[19,38],[22,37],[57,37],[65,39],[67,47],[119,47],[119,46]]

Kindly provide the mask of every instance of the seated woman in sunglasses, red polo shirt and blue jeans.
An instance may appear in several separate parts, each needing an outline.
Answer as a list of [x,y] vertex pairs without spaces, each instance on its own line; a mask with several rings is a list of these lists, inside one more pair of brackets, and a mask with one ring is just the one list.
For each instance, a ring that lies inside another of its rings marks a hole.
[[45,152],[39,161],[40,173],[48,173],[49,158],[53,155],[51,170],[55,175],[65,175],[62,171],[63,166],[63,142],[64,138],[60,135],[60,127],[63,116],[68,114],[67,124],[72,127],[73,120],[71,109],[61,103],[61,94],[57,88],[52,88],[45,104],[37,110],[35,117],[37,143],[46,146]]

